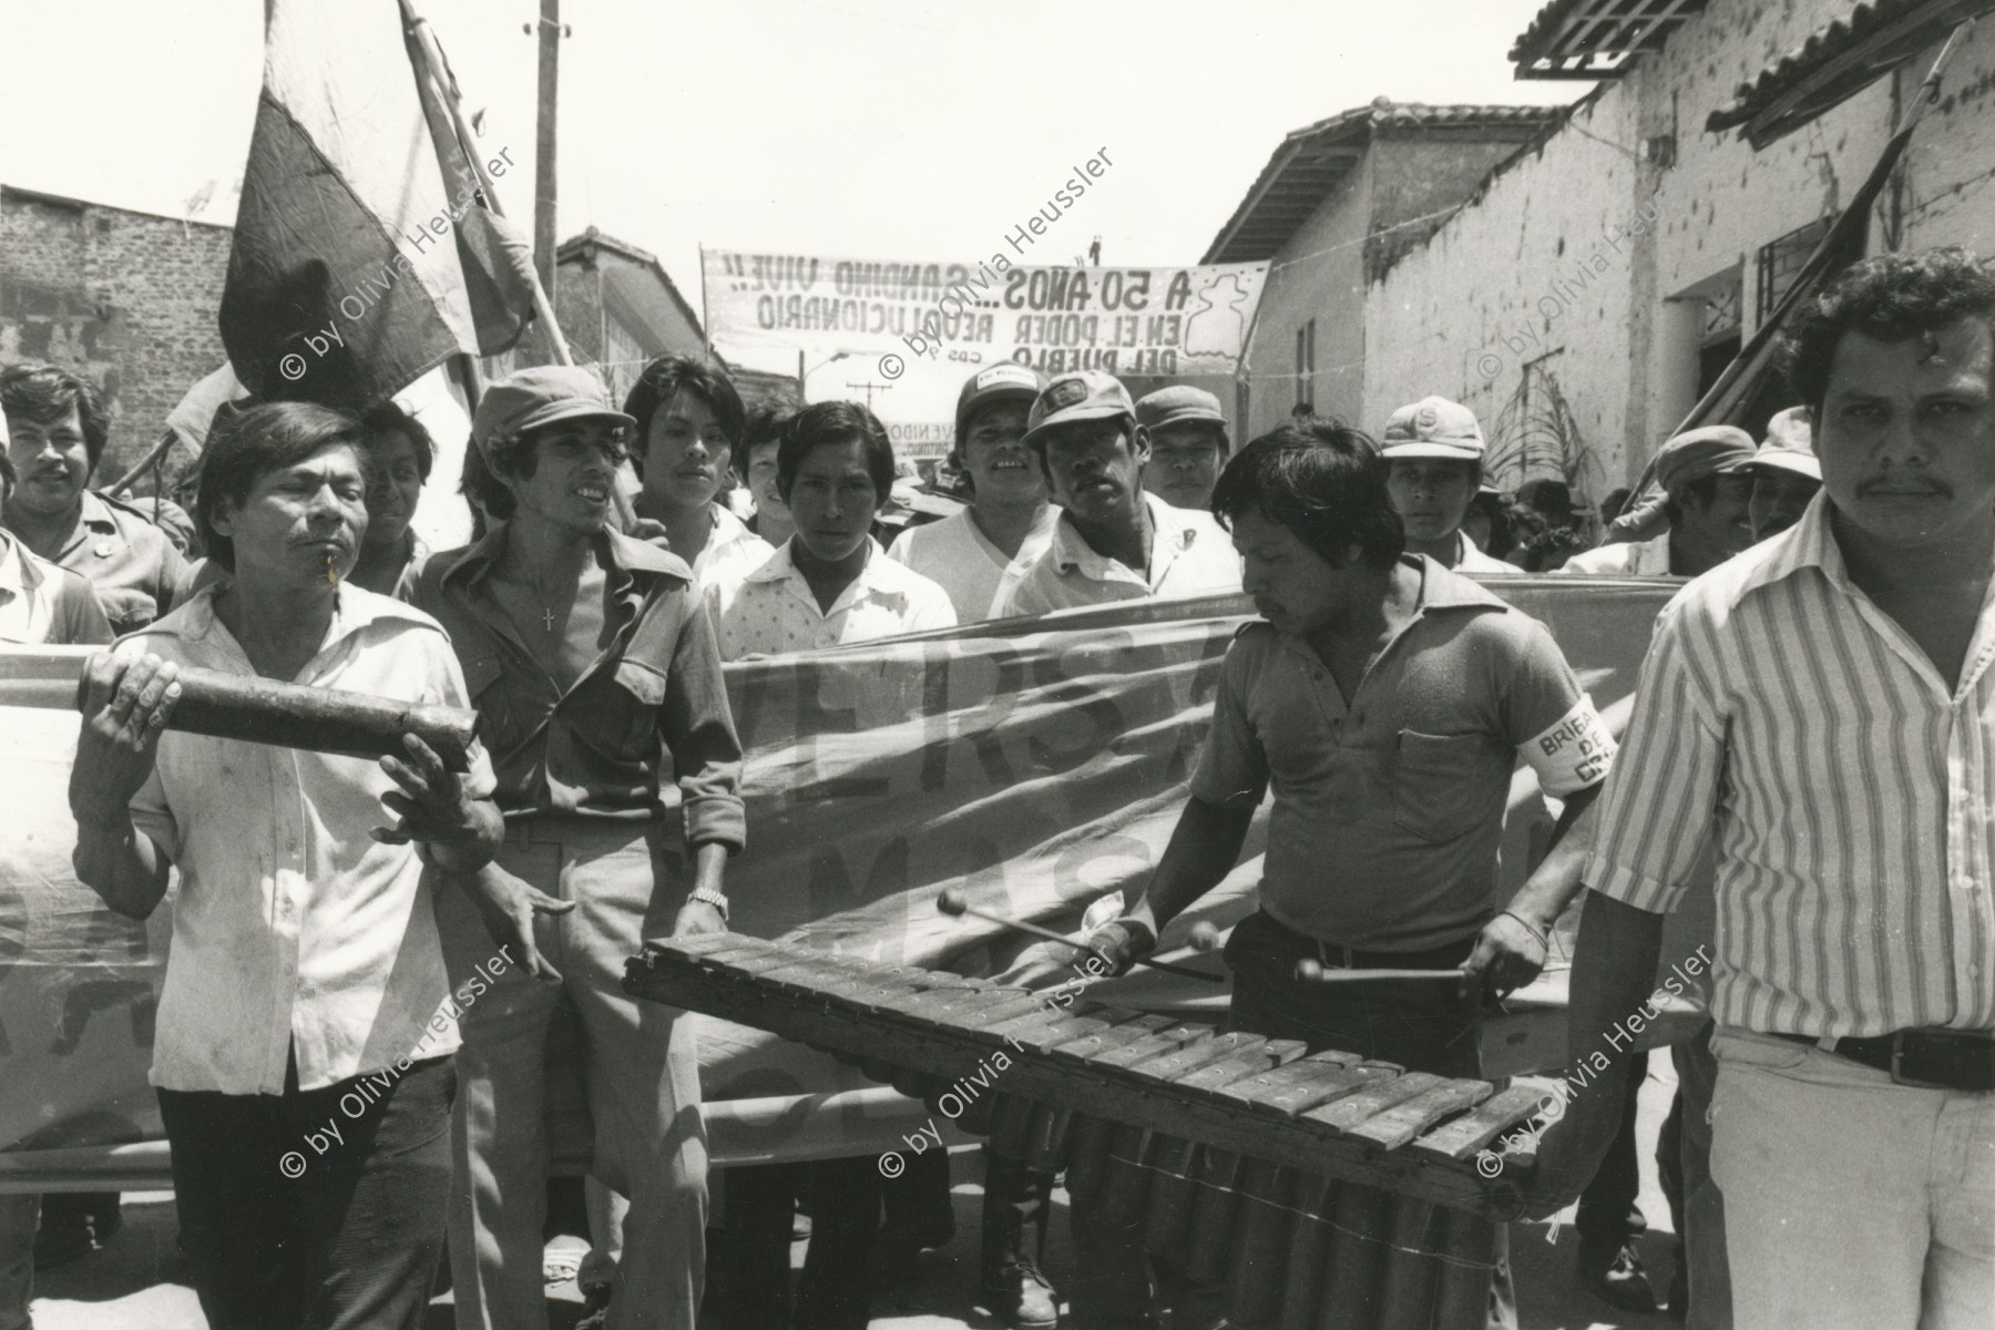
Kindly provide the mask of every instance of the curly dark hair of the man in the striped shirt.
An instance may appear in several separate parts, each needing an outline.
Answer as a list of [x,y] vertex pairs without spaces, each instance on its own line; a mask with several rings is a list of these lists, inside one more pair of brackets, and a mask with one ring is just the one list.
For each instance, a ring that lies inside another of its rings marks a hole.
[[1961,319],[1995,329],[1995,265],[1959,247],[1879,253],[1803,301],[1794,331],[1782,337],[1788,383],[1815,417],[1829,395],[1829,365],[1845,333],[1905,341]]

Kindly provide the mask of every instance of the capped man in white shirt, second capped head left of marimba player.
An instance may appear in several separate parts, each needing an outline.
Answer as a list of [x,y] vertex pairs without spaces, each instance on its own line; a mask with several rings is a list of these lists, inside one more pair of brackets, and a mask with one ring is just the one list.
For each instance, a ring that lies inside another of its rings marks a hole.
[[960,624],[990,618],[1011,560],[1029,564],[1053,538],[1059,512],[1045,502],[1045,477],[1025,449],[1025,415],[1041,387],[1037,371],[1009,361],[964,383],[950,461],[970,477],[972,502],[940,522],[910,526],[888,550],[950,592]]

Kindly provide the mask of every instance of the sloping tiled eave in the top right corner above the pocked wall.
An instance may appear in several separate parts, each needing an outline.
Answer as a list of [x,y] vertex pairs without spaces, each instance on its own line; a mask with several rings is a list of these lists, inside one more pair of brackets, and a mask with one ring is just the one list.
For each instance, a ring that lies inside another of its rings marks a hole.
[[1961,20],[1989,10],[1995,10],[1995,0],[1859,4],[1740,84],[1732,102],[1712,112],[1704,128],[1716,134],[1744,126],[1754,148],[1764,148],[1937,44]]

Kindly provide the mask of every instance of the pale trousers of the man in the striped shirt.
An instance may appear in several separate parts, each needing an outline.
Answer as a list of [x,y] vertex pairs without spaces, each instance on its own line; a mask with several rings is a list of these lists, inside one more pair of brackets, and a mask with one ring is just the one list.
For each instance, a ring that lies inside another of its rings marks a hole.
[[1720,1027],[1712,1174],[1740,1330],[1985,1330],[1995,1093]]

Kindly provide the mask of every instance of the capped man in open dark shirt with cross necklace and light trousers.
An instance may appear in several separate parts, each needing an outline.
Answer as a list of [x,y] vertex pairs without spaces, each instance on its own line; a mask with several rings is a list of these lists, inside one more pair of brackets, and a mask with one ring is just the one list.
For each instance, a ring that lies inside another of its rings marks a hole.
[[465,664],[507,820],[479,895],[439,909],[443,953],[463,981],[487,929],[525,939],[521,967],[463,1021],[449,1216],[463,1330],[547,1326],[551,1031],[581,1045],[591,1176],[630,1200],[606,1324],[692,1326],[700,1308],[698,1055],[678,1013],[622,991],[622,967],[648,937],[726,929],[742,754],[692,570],[610,526],[632,425],[587,369],[491,385],[471,481],[497,520],[417,586]]

